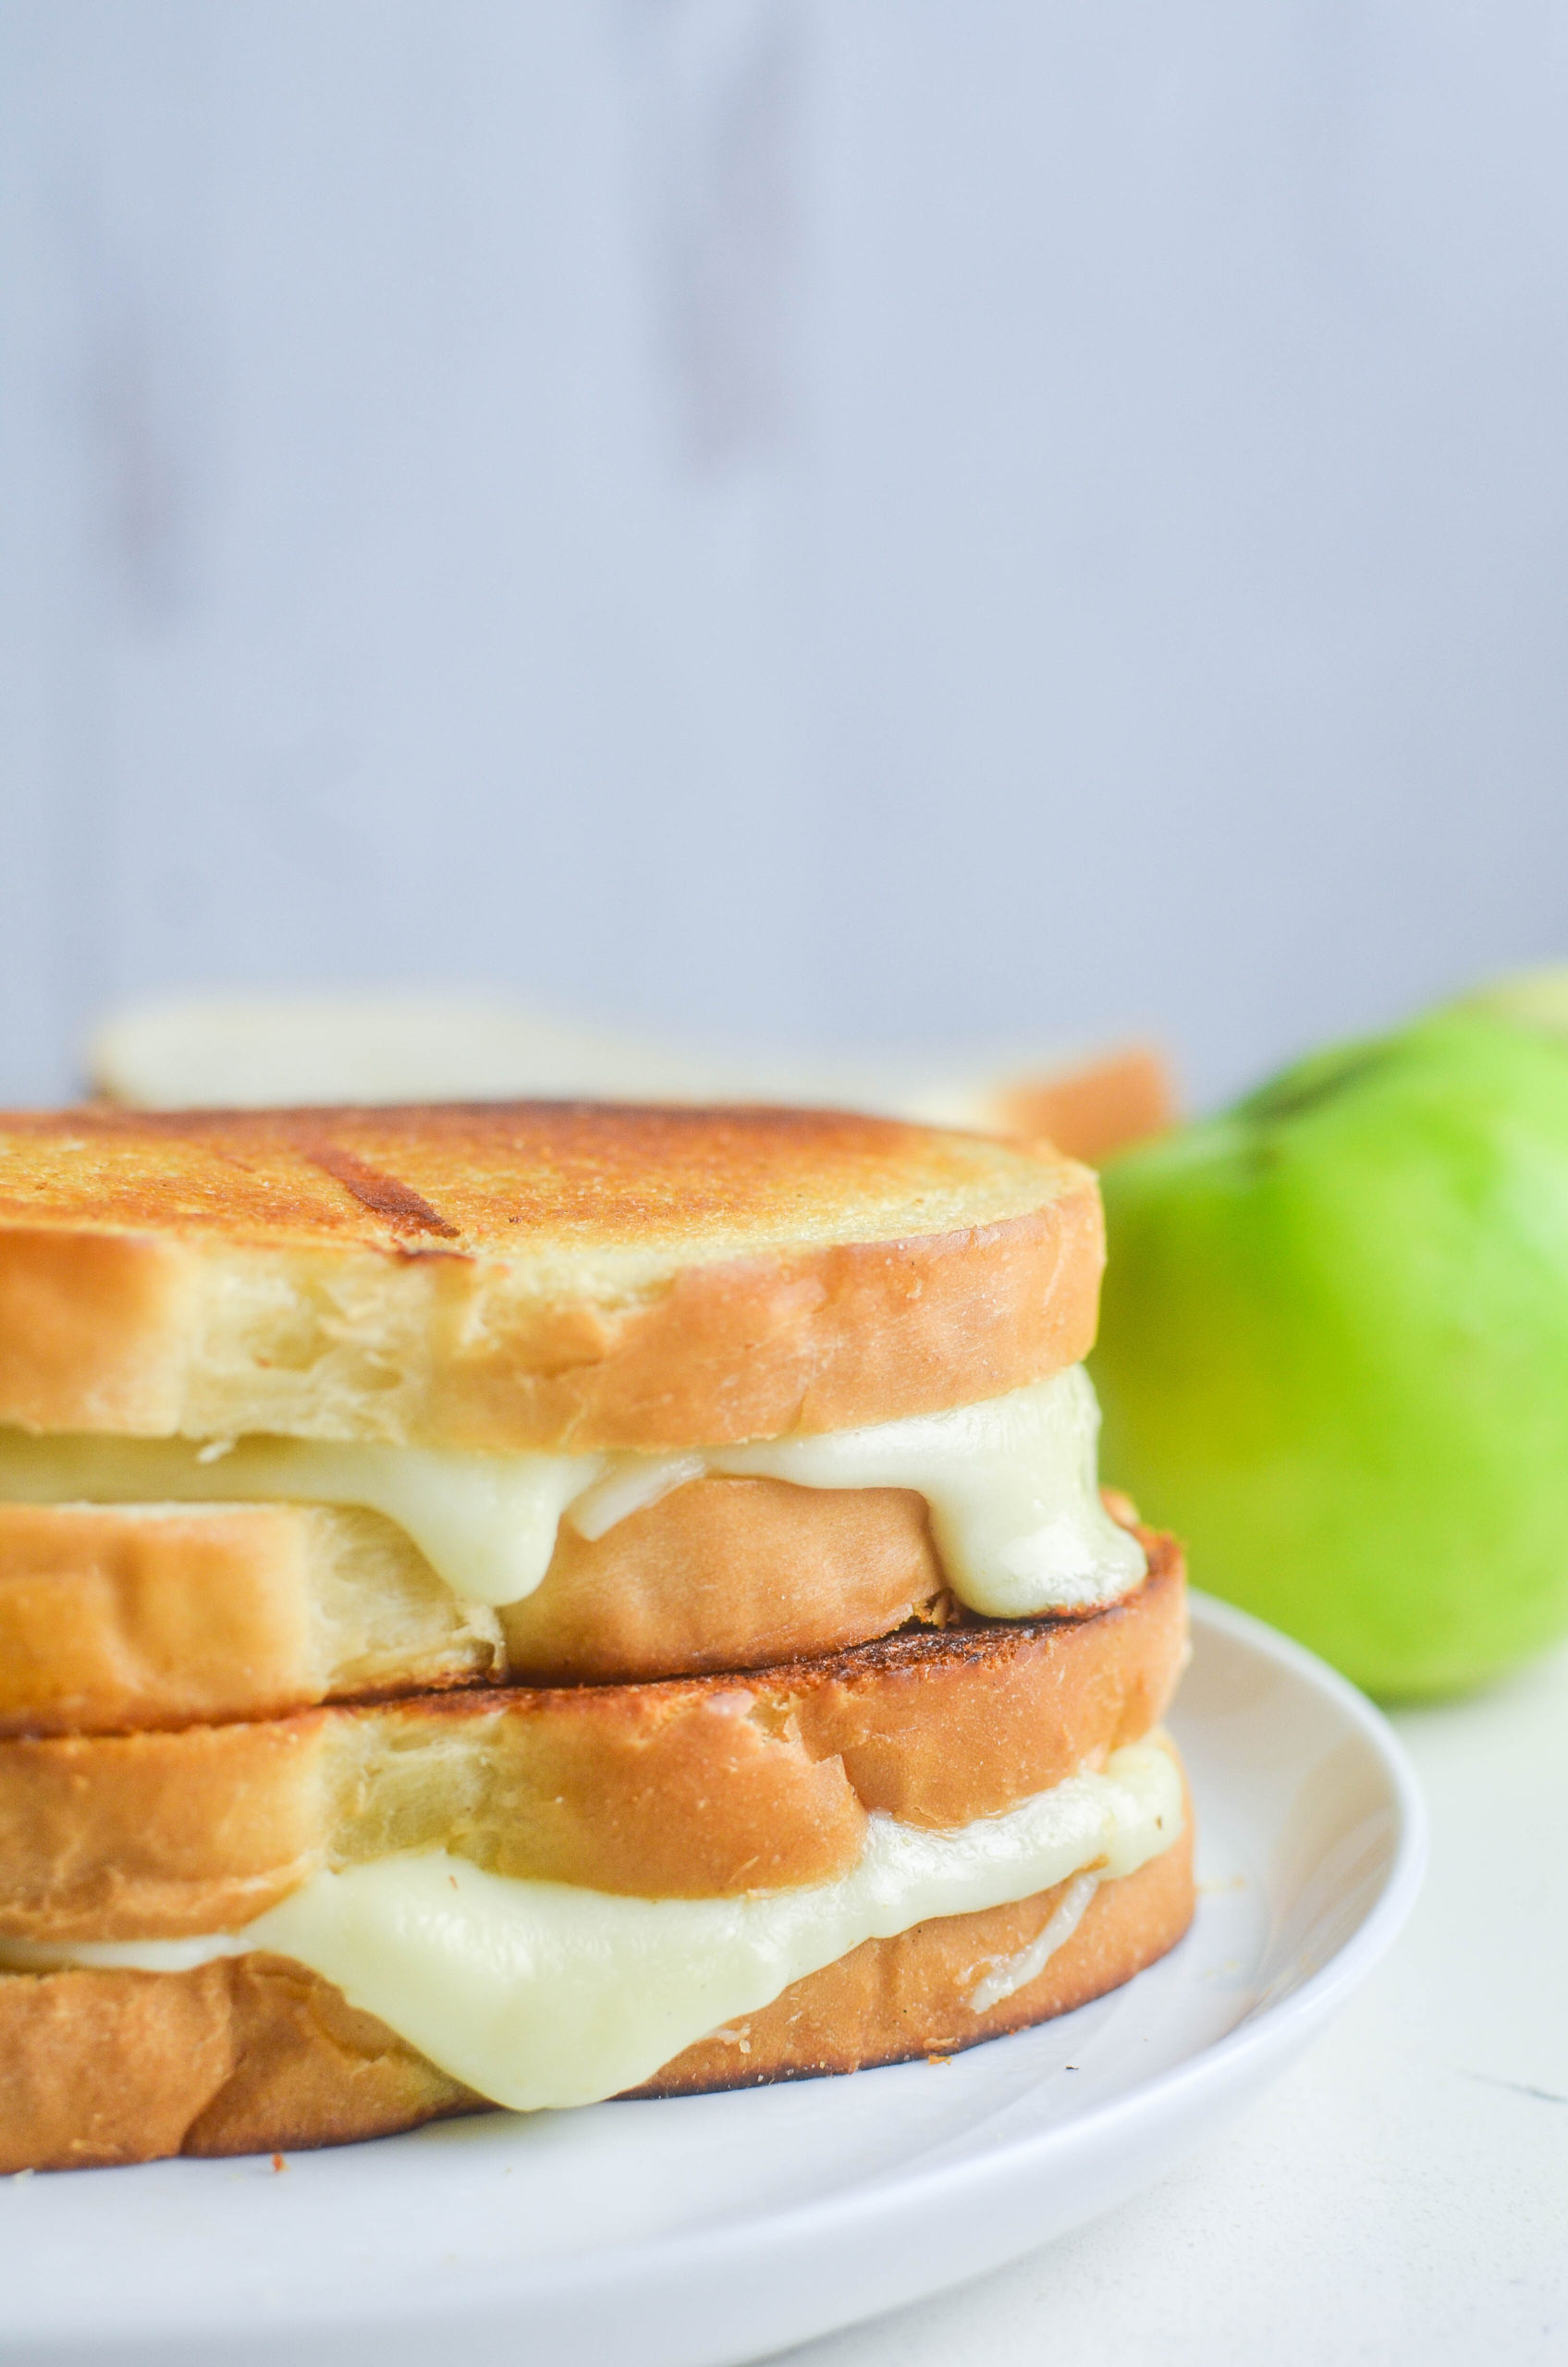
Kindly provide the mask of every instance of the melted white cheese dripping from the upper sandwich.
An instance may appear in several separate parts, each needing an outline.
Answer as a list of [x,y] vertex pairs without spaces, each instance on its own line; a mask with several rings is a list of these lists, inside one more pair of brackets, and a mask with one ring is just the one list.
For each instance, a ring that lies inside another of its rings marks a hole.
[[602,1536],[703,1472],[817,1489],[914,1489],[943,1574],[992,1619],[1111,1602],[1144,1574],[1094,1482],[1099,1408],[1082,1366],[952,1413],[680,1456],[471,1456],[320,1439],[114,1439],[0,1432],[0,1501],[346,1503],[398,1522],[455,1595],[521,1602],[561,1517]]

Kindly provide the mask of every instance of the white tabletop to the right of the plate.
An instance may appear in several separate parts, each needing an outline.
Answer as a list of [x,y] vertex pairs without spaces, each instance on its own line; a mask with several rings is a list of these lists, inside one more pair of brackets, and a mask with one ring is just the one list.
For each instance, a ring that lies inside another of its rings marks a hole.
[[1111,2218],[791,2367],[1568,2360],[1568,1655],[1395,1723],[1426,1891],[1305,2062]]

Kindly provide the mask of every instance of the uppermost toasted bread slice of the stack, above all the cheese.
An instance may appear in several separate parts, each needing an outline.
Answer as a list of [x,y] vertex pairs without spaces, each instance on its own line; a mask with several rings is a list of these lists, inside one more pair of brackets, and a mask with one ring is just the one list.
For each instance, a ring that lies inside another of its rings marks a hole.
[[670,1449],[997,1397],[1078,1361],[1094,1179],[760,1108],[0,1117],[0,1420]]

